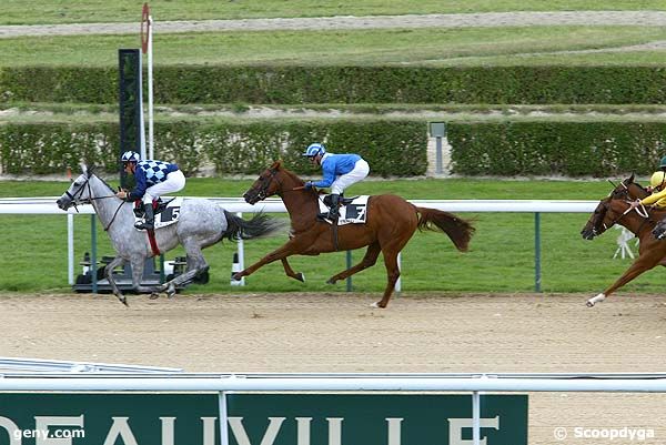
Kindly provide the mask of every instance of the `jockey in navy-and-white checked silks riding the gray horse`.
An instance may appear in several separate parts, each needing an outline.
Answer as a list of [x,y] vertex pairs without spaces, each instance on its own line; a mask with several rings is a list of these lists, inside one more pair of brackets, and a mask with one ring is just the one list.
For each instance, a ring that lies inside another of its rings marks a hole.
[[127,201],[141,200],[145,210],[144,222],[137,223],[139,230],[154,229],[154,212],[152,202],[163,194],[175,193],[185,186],[185,175],[176,164],[163,161],[141,161],[139,153],[125,151],[120,158],[125,173],[133,174],[137,186],[131,192],[124,190],[115,193]]

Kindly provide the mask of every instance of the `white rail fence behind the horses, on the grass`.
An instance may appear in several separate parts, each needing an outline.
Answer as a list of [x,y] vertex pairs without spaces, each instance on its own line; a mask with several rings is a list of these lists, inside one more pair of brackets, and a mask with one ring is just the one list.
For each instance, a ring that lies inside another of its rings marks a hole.
[[[3,198],[0,199],[0,214],[60,214],[68,215],[68,277],[69,283],[74,283],[74,224],[75,214],[94,214],[91,205],[80,205],[79,211],[70,209],[67,212],[56,205],[57,196],[43,198]],[[240,198],[208,198],[229,212],[254,213],[286,213],[286,209],[279,199],[268,199],[259,204],[250,205]],[[567,201],[567,200],[411,200],[417,206],[444,210],[447,212],[515,212],[534,213],[534,287],[541,292],[541,213],[591,213],[598,201]],[[239,260],[241,269],[244,267],[244,249],[239,242]],[[347,254],[349,257],[349,254]],[[398,262],[401,257],[398,256]],[[349,279],[347,279],[349,280]],[[351,281],[347,281],[351,290]],[[401,291],[401,281],[395,290]]]

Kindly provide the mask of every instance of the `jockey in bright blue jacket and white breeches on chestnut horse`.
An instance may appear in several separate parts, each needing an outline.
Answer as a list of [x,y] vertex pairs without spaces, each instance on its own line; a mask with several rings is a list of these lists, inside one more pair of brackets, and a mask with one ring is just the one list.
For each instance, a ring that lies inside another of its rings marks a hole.
[[321,143],[313,143],[307,146],[304,156],[310,159],[315,165],[321,165],[324,178],[321,181],[305,183],[305,189],[331,188],[331,210],[327,214],[323,213],[319,218],[327,218],[333,223],[337,222],[340,195],[344,189],[364,180],[370,173],[370,165],[359,154],[333,154],[327,153]]

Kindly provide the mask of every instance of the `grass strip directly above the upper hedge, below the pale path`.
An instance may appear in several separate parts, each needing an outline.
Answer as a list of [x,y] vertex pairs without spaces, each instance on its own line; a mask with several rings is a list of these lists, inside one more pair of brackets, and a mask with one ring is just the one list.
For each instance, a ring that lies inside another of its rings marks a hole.
[[[657,27],[516,27],[159,34],[161,64],[663,64],[664,51],[562,53],[666,40]],[[114,67],[138,36],[0,39],[0,65]]]

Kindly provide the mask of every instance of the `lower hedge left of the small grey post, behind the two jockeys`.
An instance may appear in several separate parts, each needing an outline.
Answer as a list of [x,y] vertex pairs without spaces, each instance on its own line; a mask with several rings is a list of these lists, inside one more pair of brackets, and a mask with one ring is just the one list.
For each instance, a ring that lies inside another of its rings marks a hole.
[[[425,124],[414,121],[170,122],[154,130],[155,158],[178,162],[186,174],[206,163],[218,174],[258,174],[276,159],[312,173],[301,153],[315,141],[332,152],[360,153],[373,175],[415,176],[427,168]],[[118,146],[111,123],[0,125],[0,164],[10,174],[61,173],[81,160],[118,171]]]

